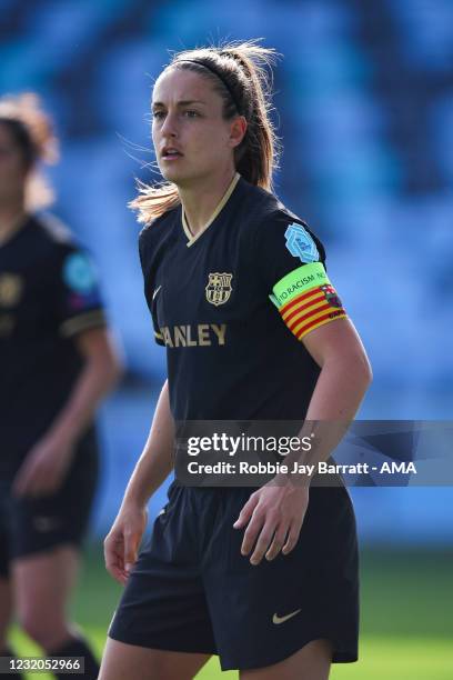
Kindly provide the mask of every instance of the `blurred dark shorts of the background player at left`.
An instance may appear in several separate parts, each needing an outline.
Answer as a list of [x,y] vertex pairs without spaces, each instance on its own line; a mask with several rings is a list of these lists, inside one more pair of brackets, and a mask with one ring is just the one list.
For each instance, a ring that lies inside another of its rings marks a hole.
[[94,429],[80,440],[60,490],[40,498],[11,496],[11,482],[0,482],[0,577],[11,560],[60,544],[79,546],[85,532],[98,481]]

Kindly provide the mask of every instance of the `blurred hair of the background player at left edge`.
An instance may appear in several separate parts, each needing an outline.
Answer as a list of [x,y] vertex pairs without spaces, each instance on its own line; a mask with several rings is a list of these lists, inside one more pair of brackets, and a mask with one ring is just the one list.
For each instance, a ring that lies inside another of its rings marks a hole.
[[56,163],[59,153],[52,121],[41,109],[39,97],[24,92],[0,98],[0,124],[7,126],[29,169],[26,209],[48,208],[54,201],[54,192],[38,166],[40,161]]

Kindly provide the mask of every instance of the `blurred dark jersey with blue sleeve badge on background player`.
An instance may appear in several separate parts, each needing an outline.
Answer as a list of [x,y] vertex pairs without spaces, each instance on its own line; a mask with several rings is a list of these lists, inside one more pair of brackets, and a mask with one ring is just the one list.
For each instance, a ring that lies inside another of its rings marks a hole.
[[57,221],[30,218],[0,247],[0,471],[17,469],[82,368],[74,336],[104,324],[89,256]]

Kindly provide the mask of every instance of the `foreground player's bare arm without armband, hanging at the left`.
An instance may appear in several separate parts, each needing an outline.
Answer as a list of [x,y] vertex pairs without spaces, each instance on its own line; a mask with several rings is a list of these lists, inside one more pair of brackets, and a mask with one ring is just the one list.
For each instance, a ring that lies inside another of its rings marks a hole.
[[147,503],[173,469],[174,422],[165,380],[155,408],[150,434],[128,483],[118,517],[104,541],[105,567],[125,583],[137,560],[147,526]]

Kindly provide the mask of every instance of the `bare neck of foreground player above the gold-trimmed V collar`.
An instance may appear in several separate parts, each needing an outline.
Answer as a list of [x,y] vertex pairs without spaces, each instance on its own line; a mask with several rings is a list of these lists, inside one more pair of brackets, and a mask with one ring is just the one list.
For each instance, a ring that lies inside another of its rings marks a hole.
[[198,186],[179,189],[185,220],[193,236],[204,229],[234,177],[235,170],[229,168],[220,177],[203,179]]

